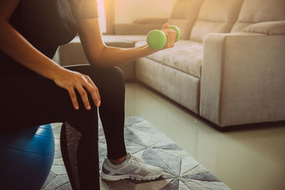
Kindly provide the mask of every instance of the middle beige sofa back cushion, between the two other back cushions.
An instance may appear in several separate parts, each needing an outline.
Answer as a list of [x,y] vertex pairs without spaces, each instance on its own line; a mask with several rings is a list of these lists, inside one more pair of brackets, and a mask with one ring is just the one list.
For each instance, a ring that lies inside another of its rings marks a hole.
[[204,0],[190,39],[202,42],[203,36],[207,33],[230,32],[237,21],[243,1]]

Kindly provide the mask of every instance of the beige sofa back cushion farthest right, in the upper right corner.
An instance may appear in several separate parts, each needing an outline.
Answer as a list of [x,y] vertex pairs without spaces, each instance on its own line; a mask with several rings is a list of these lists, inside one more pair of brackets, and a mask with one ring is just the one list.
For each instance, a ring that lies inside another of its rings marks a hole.
[[245,0],[232,32],[241,32],[252,23],[265,21],[285,21],[284,0]]

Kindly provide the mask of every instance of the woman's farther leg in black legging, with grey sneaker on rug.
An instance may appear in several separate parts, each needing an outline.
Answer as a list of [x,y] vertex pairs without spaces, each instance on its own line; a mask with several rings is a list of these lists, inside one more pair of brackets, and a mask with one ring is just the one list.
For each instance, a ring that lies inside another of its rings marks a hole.
[[[90,65],[78,65],[68,69],[89,75],[100,93],[99,113],[108,147],[108,159],[104,160],[100,173],[102,178],[152,180],[161,176],[162,169],[145,164],[142,160],[127,154],[125,150],[125,80],[121,70],[94,68]],[[118,161],[122,162],[118,164]]]

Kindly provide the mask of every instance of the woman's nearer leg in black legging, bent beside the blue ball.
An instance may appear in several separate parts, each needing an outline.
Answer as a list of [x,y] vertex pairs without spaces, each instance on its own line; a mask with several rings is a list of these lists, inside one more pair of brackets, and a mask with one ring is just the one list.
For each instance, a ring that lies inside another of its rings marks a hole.
[[[0,78],[0,85],[1,129],[13,130],[50,122],[65,122],[72,126],[75,132],[66,135],[62,131],[61,137],[63,161],[71,185],[73,189],[99,189],[97,107],[91,102],[91,110],[86,110],[78,98],[81,109],[75,110],[65,89],[37,75]],[[77,138],[78,141],[68,144],[70,139],[64,140],[66,137]],[[76,152],[73,159],[68,156],[74,154],[65,154],[70,150],[71,153]],[[79,179],[78,184],[74,179]]]

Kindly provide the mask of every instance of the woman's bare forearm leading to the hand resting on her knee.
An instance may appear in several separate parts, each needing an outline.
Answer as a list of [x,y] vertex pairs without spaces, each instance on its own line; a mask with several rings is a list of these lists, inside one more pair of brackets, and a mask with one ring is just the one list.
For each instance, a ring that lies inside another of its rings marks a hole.
[[0,49],[21,65],[46,78],[53,79],[61,66],[34,48],[7,21],[0,21]]

